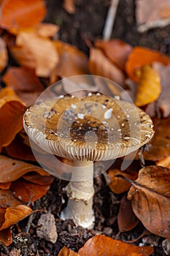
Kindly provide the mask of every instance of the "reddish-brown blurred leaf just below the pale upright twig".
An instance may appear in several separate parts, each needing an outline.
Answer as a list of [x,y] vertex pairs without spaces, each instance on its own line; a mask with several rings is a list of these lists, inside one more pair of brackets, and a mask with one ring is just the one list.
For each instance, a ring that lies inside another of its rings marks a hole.
[[102,50],[107,58],[117,64],[120,69],[125,69],[125,61],[131,53],[132,46],[120,39],[112,39],[109,41],[96,40],[95,47]]

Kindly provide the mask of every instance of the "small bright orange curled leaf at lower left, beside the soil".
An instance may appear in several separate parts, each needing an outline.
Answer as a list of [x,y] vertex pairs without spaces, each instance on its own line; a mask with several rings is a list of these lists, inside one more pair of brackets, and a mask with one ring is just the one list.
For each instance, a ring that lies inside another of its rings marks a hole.
[[26,218],[33,211],[28,206],[16,206],[15,208],[7,208],[4,214],[4,223],[1,225],[0,230],[7,229],[12,225],[19,222],[21,219]]

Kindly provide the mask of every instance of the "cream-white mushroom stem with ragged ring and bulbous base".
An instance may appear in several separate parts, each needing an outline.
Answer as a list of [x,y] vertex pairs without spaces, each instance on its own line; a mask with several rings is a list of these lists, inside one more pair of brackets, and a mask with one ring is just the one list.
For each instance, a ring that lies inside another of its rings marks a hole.
[[[93,228],[93,161],[74,161],[72,179],[66,186],[69,197],[66,208],[61,212],[61,219],[73,219],[76,225]],[[81,170],[80,170],[81,169]],[[76,180],[76,181],[75,181]]]

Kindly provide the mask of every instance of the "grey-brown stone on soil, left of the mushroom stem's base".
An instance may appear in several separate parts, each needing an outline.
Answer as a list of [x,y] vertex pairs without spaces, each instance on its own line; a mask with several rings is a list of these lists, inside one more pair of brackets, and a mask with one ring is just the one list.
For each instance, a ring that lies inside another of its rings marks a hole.
[[44,238],[45,240],[55,244],[58,238],[58,233],[53,214],[42,214],[38,221],[36,234],[39,238]]

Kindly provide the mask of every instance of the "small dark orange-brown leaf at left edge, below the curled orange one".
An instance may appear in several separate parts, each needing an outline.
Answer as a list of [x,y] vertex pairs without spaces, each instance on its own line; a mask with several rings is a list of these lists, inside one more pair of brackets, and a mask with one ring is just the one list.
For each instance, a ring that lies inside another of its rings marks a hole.
[[20,205],[20,200],[14,197],[11,190],[0,190],[0,206],[2,208],[12,207]]

